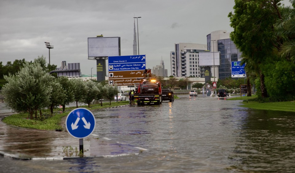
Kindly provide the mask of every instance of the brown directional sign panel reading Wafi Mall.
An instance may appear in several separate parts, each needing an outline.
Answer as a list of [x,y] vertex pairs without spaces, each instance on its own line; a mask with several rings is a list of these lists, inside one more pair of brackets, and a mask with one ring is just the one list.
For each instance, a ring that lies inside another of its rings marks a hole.
[[144,70],[131,70],[131,71],[111,71],[108,72],[108,78],[111,79],[120,79],[120,78],[139,78],[144,77],[142,74]]

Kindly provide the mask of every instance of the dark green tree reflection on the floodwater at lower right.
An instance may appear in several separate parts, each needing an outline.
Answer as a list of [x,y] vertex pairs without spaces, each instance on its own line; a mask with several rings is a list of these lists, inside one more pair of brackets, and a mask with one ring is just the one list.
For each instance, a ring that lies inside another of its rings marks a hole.
[[292,112],[249,110],[229,158],[238,170],[294,172],[295,118]]

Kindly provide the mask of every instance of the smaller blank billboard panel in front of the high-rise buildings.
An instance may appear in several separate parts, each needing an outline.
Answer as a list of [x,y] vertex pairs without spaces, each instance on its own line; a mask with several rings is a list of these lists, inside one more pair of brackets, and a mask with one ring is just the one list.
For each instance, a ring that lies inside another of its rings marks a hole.
[[199,66],[220,65],[219,54],[220,52],[199,52]]

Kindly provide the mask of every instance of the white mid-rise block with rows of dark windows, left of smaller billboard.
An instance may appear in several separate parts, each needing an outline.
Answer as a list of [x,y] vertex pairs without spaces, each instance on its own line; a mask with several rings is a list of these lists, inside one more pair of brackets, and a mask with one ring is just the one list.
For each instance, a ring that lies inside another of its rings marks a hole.
[[174,77],[201,77],[203,68],[199,67],[199,52],[204,52],[207,45],[195,43],[175,44],[170,52],[171,75]]

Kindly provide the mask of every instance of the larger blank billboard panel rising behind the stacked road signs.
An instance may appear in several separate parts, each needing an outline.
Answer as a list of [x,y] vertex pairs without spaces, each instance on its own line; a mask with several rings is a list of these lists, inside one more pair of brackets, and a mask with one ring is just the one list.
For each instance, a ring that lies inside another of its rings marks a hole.
[[88,38],[88,57],[120,56],[120,37]]

